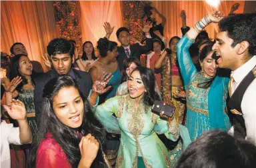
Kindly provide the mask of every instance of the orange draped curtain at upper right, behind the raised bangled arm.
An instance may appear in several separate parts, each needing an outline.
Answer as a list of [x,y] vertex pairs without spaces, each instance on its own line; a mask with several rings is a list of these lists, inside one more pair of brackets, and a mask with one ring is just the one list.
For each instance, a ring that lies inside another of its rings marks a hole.
[[[221,1],[217,10],[228,15],[231,6],[235,3],[240,3],[240,7],[235,13],[243,13],[245,1]],[[187,15],[187,26],[193,27],[197,21],[205,16],[210,11],[215,11],[214,7],[208,5],[205,1],[152,1],[152,5],[163,14],[167,21],[164,28],[164,35],[168,39],[171,39],[174,35],[182,36],[181,27],[182,20],[179,14],[182,10],[185,10]],[[161,23],[161,17],[153,11],[153,16],[157,19],[157,23]],[[211,25],[205,28],[209,37],[214,39],[217,34],[217,23],[211,23]]]

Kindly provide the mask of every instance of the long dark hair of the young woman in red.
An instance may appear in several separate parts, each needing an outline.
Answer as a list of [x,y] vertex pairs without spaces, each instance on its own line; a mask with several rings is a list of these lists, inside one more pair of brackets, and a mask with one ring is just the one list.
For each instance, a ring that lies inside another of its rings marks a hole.
[[103,143],[103,138],[105,137],[105,129],[101,125],[101,123],[95,118],[93,111],[91,110],[91,106],[87,101],[87,98],[81,93],[79,87],[74,81],[72,77],[68,75],[61,75],[55,77],[48,81],[43,89],[43,110],[39,114],[39,131],[35,139],[33,139],[33,143],[31,145],[31,152],[29,153],[29,165],[30,167],[35,167],[36,165],[36,157],[37,157],[37,149],[43,139],[45,139],[45,135],[47,133],[51,133],[53,135],[53,139],[63,149],[70,165],[72,167],[77,167],[79,165],[79,161],[81,159],[81,153],[79,150],[79,143],[81,141],[81,137],[77,135],[75,129],[64,125],[59,121],[56,117],[55,112],[53,111],[53,98],[59,93],[59,91],[63,87],[75,87],[80,96],[83,99],[84,103],[84,113],[83,113],[83,123],[79,128],[79,132],[85,136],[88,133],[91,133],[99,141],[99,151],[97,157],[93,161],[91,167],[105,167],[105,163],[103,161],[103,157],[101,155],[101,147]]

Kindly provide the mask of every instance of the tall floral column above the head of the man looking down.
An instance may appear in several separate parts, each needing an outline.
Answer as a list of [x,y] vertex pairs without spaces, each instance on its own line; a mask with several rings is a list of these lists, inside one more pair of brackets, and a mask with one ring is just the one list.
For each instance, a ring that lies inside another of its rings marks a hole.
[[77,13],[78,3],[77,1],[53,1],[53,6],[59,37],[72,39],[76,42],[77,47],[81,48],[82,35]]

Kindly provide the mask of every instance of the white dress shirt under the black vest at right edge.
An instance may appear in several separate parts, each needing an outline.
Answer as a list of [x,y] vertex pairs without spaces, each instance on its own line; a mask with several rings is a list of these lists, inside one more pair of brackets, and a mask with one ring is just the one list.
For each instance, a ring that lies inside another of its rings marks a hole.
[[[256,65],[256,55],[253,56],[247,63],[233,71],[231,76],[234,79],[232,85],[232,94],[235,89],[239,86],[245,76],[251,71]],[[246,127],[246,139],[256,145],[256,79],[247,87],[243,99],[241,102],[241,109],[243,112],[243,119],[245,120]],[[231,127],[230,133],[233,134],[234,128]]]

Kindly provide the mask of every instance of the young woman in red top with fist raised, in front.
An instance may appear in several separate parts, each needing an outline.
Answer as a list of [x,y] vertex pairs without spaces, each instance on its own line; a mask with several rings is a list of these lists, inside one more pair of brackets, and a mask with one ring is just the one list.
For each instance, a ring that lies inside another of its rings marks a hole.
[[39,131],[32,143],[30,167],[107,167],[101,150],[105,129],[70,76],[51,79],[43,90]]

